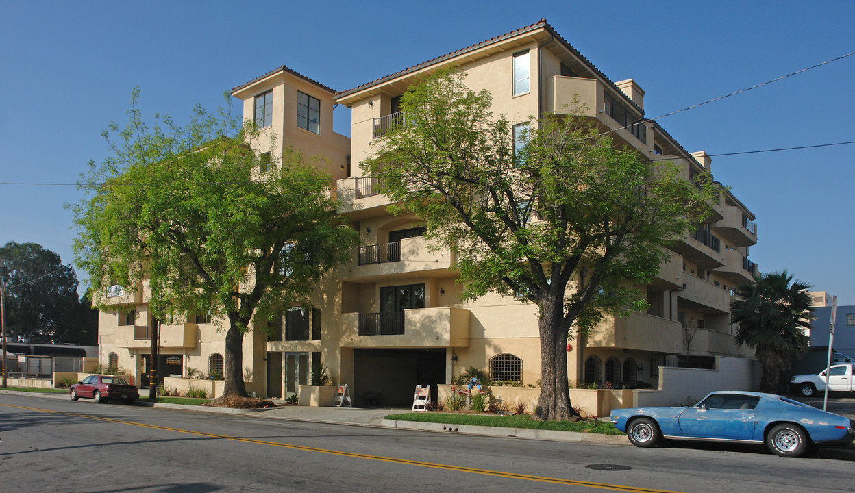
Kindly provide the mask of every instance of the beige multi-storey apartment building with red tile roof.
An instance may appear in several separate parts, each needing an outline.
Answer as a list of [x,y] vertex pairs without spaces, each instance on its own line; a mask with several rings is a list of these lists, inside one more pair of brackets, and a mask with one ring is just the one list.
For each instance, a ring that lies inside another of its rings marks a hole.
[[[351,385],[357,405],[409,404],[416,384],[435,388],[467,367],[484,368],[492,379],[538,384],[534,305],[503,296],[462,302],[454,252],[428,249],[424,222],[390,214],[388,199],[378,193],[381,178],[365,176],[357,166],[373,152],[371,143],[400,122],[404,91],[443,67],[460,68],[467,85],[491,91],[492,113],[505,114],[517,128],[532,125],[532,115],[566,114],[576,97],[584,116],[612,131],[616,144],[651,160],[674,161],[686,178],[711,169],[705,152],[685,150],[662,126],[644,120],[645,91],[637,81],[613,82],[545,20],[334,95],[286,67],[240,85],[233,95],[243,100],[245,118],[266,122],[269,113],[270,132],[280,142],[329,157],[337,212],[361,237],[351,261],[318,286],[312,307],[283,314],[269,336],[257,331],[245,338],[250,390],[288,396],[321,366],[334,383]],[[333,103],[351,108],[349,145],[329,130]],[[307,130],[300,126],[305,115],[310,121],[320,115],[320,121]],[[255,145],[264,151],[266,144],[262,138]],[[571,383],[656,386],[663,365],[750,355],[734,343],[729,306],[734,286],[751,282],[757,272],[748,260],[748,249],[757,243],[755,217],[723,186],[710,205],[711,217],[669,246],[673,257],[647,286],[646,313],[607,317],[587,337],[572,341]],[[102,350],[142,372],[144,337],[130,337],[132,329],[123,327],[133,323],[121,311],[136,305],[135,320],[146,320],[144,286],[136,296],[119,297],[124,302],[117,300],[116,310],[102,314]],[[223,347],[221,333],[205,323],[184,324],[175,332],[174,345],[164,348],[173,353],[164,354],[183,355],[185,367],[213,368],[209,363]]]

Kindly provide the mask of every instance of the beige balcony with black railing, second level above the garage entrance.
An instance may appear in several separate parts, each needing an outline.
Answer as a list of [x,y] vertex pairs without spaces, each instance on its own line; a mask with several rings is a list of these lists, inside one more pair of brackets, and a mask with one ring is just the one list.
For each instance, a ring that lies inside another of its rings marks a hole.
[[443,276],[454,265],[451,250],[428,249],[424,237],[403,238],[400,242],[358,247],[356,258],[342,268],[343,280],[370,280],[380,276]]

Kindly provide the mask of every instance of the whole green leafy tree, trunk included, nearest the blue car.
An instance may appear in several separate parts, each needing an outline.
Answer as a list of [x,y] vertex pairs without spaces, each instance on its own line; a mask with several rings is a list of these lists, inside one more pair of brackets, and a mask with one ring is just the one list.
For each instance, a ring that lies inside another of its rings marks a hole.
[[382,177],[395,210],[427,220],[434,248],[455,249],[463,298],[494,292],[537,305],[534,416],[572,419],[568,337],[604,313],[646,309],[636,286],[669,256],[661,247],[703,217],[711,180],[690,183],[673,164],[616,148],[573,115],[533,119],[515,146],[508,120],[492,117],[490,94],[463,78],[439,73],[410,87],[405,124],[362,166]]

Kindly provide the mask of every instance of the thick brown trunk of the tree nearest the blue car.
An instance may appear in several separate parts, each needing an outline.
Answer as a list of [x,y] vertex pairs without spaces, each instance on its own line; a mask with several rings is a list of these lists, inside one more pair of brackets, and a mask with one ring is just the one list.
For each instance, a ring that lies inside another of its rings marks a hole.
[[578,420],[570,404],[567,385],[567,334],[561,330],[563,303],[558,299],[541,302],[540,398],[534,419],[540,421]]

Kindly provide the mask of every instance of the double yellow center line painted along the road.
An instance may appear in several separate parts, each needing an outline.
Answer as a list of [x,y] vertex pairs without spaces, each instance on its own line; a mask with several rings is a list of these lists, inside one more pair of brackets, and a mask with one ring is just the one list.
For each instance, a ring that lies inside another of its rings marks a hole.
[[230,437],[228,435],[217,435],[215,433],[206,433],[204,431],[182,430],[180,428],[169,428],[168,426],[145,425],[144,423],[134,423],[133,421],[113,420],[111,418],[102,418],[98,416],[90,416],[86,414],[64,413],[62,411],[51,411],[50,409],[26,408],[23,406],[13,406],[11,404],[0,404],[6,408],[27,409],[28,411],[40,411],[51,414],[64,414],[66,416],[74,416],[75,418],[85,418],[87,420],[108,421],[110,423],[120,423],[122,425],[140,426],[143,428],[151,428],[153,430],[174,431],[176,433],[186,433],[188,435],[196,435],[198,437],[221,438],[223,440],[232,440],[234,442],[255,443],[257,445],[268,445],[270,447],[280,447],[282,449],[301,450],[304,452],[317,452],[320,454],[339,455],[342,457],[351,457],[355,459],[366,459],[369,461],[384,461],[394,464],[404,464],[406,466],[416,467],[433,467],[434,469],[443,469],[445,471],[469,472],[472,474],[481,474],[486,476],[496,476],[498,478],[522,479],[525,481],[538,481],[540,483],[565,484],[569,486],[585,486],[587,488],[598,488],[601,490],[628,491],[631,493],[680,493],[672,490],[652,490],[649,488],[637,488],[634,486],[623,486],[621,484],[594,483],[592,481],[577,481],[575,479],[563,478],[548,478],[544,476],[534,476],[531,474],[518,474],[516,472],[490,471],[488,469],[475,469],[474,467],[450,466],[447,464],[436,464],[433,462],[410,461],[407,459],[397,459],[394,457],[383,457],[381,455],[366,455],[356,454],[353,452],[342,452],[340,450],[317,449],[315,447],[304,447],[302,445],[292,445],[288,443],[268,442],[266,440],[256,440],[254,438]]

